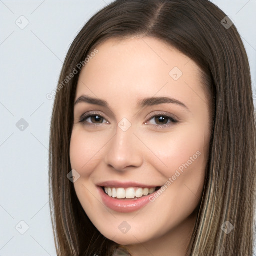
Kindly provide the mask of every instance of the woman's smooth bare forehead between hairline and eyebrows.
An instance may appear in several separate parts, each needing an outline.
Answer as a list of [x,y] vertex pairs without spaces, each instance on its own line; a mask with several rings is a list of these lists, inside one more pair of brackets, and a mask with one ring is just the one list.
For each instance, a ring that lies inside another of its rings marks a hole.
[[196,63],[159,39],[109,39],[96,48],[80,72],[76,99],[84,93],[115,101],[156,94],[186,101],[205,96]]

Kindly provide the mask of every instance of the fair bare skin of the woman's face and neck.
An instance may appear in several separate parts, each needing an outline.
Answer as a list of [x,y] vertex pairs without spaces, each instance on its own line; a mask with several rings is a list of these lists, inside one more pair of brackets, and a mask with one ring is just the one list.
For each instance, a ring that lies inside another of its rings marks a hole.
[[[152,37],[109,39],[97,49],[81,70],[75,100],[86,94],[106,100],[110,108],[87,102],[74,106],[70,161],[80,174],[74,182],[77,197],[95,227],[132,255],[184,256],[202,196],[211,133],[199,67]],[[173,67],[183,72],[178,80],[169,75]],[[137,100],[152,96],[172,97],[188,109],[173,103],[138,107]],[[93,110],[101,120],[79,122]],[[161,112],[179,122],[161,123],[153,117]],[[131,123],[125,132],[118,127],[124,117]],[[170,125],[157,128],[164,124]],[[142,210],[120,213],[104,206],[95,184],[120,180],[160,186],[197,151],[200,156]],[[125,234],[118,228],[123,221],[131,227]]]

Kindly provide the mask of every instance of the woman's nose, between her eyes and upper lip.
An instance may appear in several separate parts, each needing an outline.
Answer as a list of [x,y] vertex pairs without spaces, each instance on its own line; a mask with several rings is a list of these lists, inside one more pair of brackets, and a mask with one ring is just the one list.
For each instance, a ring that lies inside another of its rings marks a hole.
[[132,126],[123,131],[119,126],[115,135],[107,143],[105,163],[117,171],[125,171],[130,167],[139,167],[143,163],[142,143],[133,133]]

